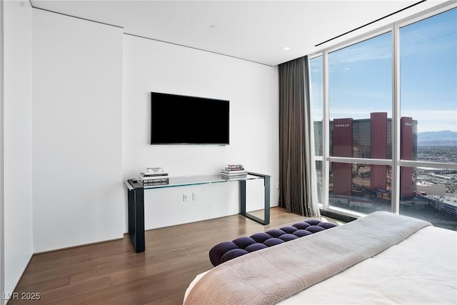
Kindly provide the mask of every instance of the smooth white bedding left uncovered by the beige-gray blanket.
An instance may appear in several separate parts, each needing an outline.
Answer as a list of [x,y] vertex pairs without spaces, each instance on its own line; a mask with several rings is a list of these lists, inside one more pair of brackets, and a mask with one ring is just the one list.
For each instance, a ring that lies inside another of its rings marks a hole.
[[457,232],[427,226],[278,304],[457,304]]

